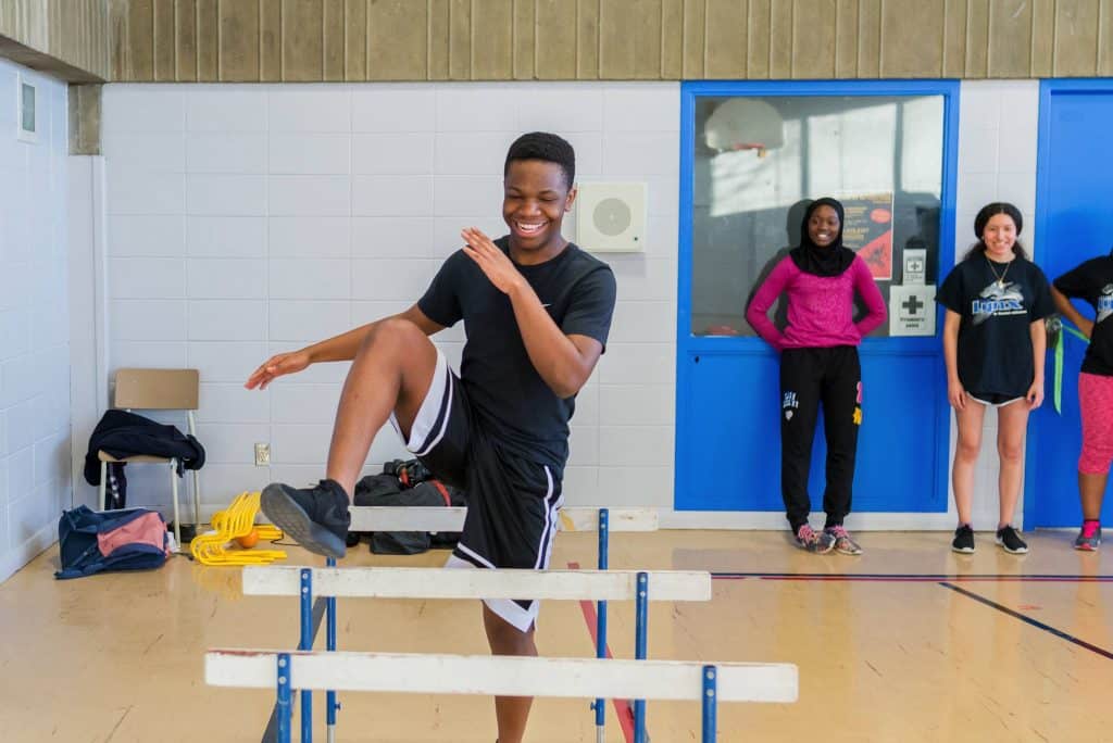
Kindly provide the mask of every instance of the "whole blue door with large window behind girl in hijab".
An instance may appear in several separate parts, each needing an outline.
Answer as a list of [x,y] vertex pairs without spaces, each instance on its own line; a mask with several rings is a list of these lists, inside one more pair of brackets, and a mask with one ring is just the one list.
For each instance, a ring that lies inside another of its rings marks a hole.
[[[699,123],[699,112],[729,97],[754,96],[769,100],[770,96],[829,96],[839,97],[840,100],[854,99],[855,102],[850,106],[860,106],[858,110],[870,109],[873,106],[869,115],[874,116],[874,111],[881,110],[881,107],[865,100],[865,97],[870,95],[888,96],[887,100],[899,96],[942,96],[945,105],[934,109],[943,117],[942,151],[940,143],[930,145],[939,158],[936,162],[942,160],[937,171],[942,172],[942,194],[936,192],[934,211],[929,212],[929,217],[925,216],[922,219],[922,224],[932,221],[929,228],[936,230],[933,239],[938,250],[934,255],[929,254],[928,259],[930,284],[940,273],[946,274],[947,267],[954,259],[952,246],[954,245],[953,195],[956,170],[957,89],[957,83],[948,81],[730,86],[686,83],[683,86],[677,335],[674,484],[677,509],[784,511],[780,494],[779,357],[760,338],[745,335],[750,333],[748,325],[737,316],[739,308],[745,306],[746,294],[752,289],[752,285],[746,286],[746,281],[736,281],[738,286],[732,296],[727,291],[722,293],[725,296],[721,303],[722,315],[716,317],[715,308],[706,310],[705,314],[709,317],[707,320],[700,315],[701,307],[710,304],[706,295],[715,288],[716,281],[721,278],[721,284],[728,285],[735,280],[731,276],[708,276],[711,271],[705,271],[701,276],[700,267],[693,269],[693,260],[701,259],[700,251],[703,250],[705,255],[712,254],[712,258],[707,260],[719,257],[721,265],[726,266],[731,256],[738,255],[737,251],[754,251],[759,249],[759,246],[749,245],[747,238],[739,238],[739,230],[733,227],[730,230],[720,230],[715,236],[718,244],[715,244],[713,239],[700,242],[700,219],[705,219],[700,214],[701,208],[712,217],[716,217],[717,210],[719,214],[726,214],[726,217],[719,217],[719,224],[730,225],[727,220],[731,215],[737,215],[747,207],[741,204],[741,199],[730,200],[731,195],[742,188],[737,185],[737,180],[725,179],[722,188],[703,189],[709,196],[701,196],[702,187],[698,179],[707,178],[708,172],[715,172],[720,162],[726,162],[729,167],[730,158],[741,159],[747,156],[731,155],[729,146],[721,150],[726,152],[725,155],[707,155],[708,142],[715,140],[707,131],[708,127]],[[710,102],[701,101],[701,97],[708,97]],[[860,103],[857,102],[859,99]],[[786,121],[789,121],[794,110],[809,106],[805,101],[775,102],[780,105],[779,110],[785,113]],[[823,102],[810,105],[824,106]],[[736,105],[736,110],[742,110],[745,106],[750,106],[751,110],[757,108],[756,105],[742,103]],[[899,119],[897,121],[900,126]],[[790,123],[785,126],[787,140],[789,131],[787,127]],[[809,130],[809,127],[821,129],[823,126],[815,121],[806,122],[797,131]],[[768,136],[768,131],[762,133]],[[725,135],[715,132],[715,136]],[[757,132],[741,135],[750,139],[758,136],[760,135]],[[865,143],[865,147],[873,146],[873,142]],[[899,145],[894,149],[897,152],[902,151]],[[800,148],[800,151],[806,150],[806,147]],[[821,155],[812,153],[808,157],[820,162],[816,158]],[[768,156],[762,153],[760,159],[758,157],[752,156],[750,161],[756,174],[755,178],[768,172],[770,167],[768,164],[780,155],[770,152]],[[708,165],[708,160],[712,162]],[[807,162],[801,165],[801,171],[807,167]],[[781,172],[784,170],[782,168]],[[899,189],[899,185],[910,178],[905,176],[902,180],[899,167],[895,181]],[[736,190],[731,191],[731,188]],[[823,195],[805,194],[810,197]],[[760,199],[761,195],[757,198]],[[912,197],[905,195],[904,198]],[[928,211],[924,210],[924,214]],[[916,215],[919,215],[918,210]],[[782,220],[780,225],[784,226],[785,221]],[[906,235],[899,235],[899,227],[894,229],[894,247],[897,250],[913,245],[908,240],[908,230]],[[705,232],[710,231],[705,230]],[[730,240],[735,240],[738,245],[731,245]],[[720,252],[717,254],[717,250]],[[730,250],[736,252],[731,254]],[[722,255],[727,257],[721,258]],[[895,251],[894,262],[897,260],[897,255],[899,254]],[[720,270],[719,274],[731,274],[731,271]],[[892,284],[896,285],[897,280],[898,276],[894,274]],[[888,291],[886,284],[879,283],[879,286],[883,291]],[[705,287],[709,288],[705,290]],[[855,512],[924,513],[945,512],[947,508],[949,408],[938,337],[942,316],[929,303],[930,299],[927,310],[936,311],[935,336],[867,338],[859,349],[864,418],[859,433],[854,484]],[[923,308],[920,306],[920,309]],[[729,311],[736,315],[729,317],[727,315]],[[812,449],[809,488],[815,513],[823,511],[825,457],[826,447],[820,419]]]

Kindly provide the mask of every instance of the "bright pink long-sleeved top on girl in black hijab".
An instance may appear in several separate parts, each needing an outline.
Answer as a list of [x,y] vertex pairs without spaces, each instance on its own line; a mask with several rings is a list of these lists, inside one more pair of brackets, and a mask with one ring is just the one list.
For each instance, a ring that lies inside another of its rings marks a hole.
[[[781,291],[788,293],[788,327],[784,334],[767,315]],[[855,293],[865,300],[867,309],[866,317],[857,324]],[[859,257],[838,276],[815,276],[801,271],[786,256],[754,295],[746,319],[777,350],[857,346],[866,334],[885,321],[885,299],[866,261]]]

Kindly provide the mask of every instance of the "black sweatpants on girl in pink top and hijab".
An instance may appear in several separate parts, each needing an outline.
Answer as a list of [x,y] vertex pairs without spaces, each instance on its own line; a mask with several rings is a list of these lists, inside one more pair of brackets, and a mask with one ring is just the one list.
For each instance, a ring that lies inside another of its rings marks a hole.
[[808,469],[819,406],[827,436],[826,526],[850,513],[861,424],[861,366],[856,346],[790,348],[780,355],[780,489],[792,533],[808,521]]

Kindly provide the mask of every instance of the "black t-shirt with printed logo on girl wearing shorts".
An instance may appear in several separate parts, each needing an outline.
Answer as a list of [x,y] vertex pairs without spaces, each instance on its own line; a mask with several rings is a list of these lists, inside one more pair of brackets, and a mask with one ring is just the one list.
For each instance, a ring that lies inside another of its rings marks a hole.
[[975,395],[1026,395],[1035,378],[1031,325],[1055,309],[1040,267],[1023,258],[991,265],[978,254],[955,266],[935,300],[962,316],[963,387]]

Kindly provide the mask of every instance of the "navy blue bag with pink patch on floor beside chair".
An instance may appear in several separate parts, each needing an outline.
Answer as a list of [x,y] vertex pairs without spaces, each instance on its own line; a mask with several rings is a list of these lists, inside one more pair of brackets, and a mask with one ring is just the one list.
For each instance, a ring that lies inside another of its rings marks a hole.
[[56,578],[79,578],[106,571],[161,567],[168,537],[162,516],[148,508],[96,512],[78,506],[62,512],[58,546],[62,569]]

